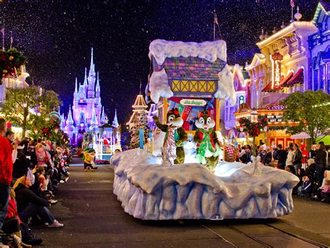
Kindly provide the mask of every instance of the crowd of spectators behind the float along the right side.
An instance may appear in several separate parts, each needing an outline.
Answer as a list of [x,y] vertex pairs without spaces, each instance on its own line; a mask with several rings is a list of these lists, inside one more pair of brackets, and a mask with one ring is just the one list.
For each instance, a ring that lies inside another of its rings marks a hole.
[[[252,153],[251,146],[242,146],[237,161],[248,164]],[[265,166],[284,169],[299,177],[292,194],[330,202],[329,153],[322,141],[313,144],[309,152],[305,145],[290,144],[283,149],[281,144],[272,147],[262,144],[256,147],[256,153]]]

